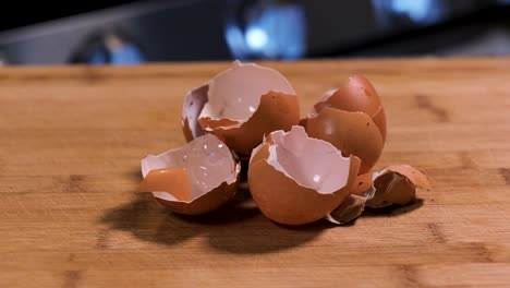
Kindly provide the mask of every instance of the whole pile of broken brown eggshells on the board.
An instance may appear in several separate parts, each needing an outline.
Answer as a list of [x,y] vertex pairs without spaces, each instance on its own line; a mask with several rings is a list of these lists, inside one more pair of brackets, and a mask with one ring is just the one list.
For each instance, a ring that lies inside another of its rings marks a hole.
[[[247,178],[269,219],[343,225],[366,207],[406,205],[428,189],[409,165],[371,170],[386,141],[376,89],[352,76],[300,119],[298,97],[278,71],[235,61],[189,92],[182,111],[187,143],[142,160],[142,192],[174,213],[198,215],[232,200]],[[244,177],[243,177],[244,176]]]

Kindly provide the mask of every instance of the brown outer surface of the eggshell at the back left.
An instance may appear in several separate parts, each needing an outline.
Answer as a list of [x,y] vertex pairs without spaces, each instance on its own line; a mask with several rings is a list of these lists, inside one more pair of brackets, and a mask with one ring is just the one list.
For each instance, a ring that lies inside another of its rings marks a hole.
[[298,124],[300,108],[295,95],[271,91],[260,97],[258,109],[239,128],[223,129],[222,127],[229,125],[228,122],[218,125],[218,120],[215,123],[209,118],[198,121],[204,130],[218,136],[235,153],[250,155],[268,133],[276,130],[289,131],[292,125]]

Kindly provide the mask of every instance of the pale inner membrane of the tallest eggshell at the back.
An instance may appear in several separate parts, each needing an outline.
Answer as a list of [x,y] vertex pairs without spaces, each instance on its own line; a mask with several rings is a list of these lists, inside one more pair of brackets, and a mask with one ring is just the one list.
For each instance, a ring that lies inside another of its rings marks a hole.
[[254,63],[234,62],[208,82],[208,101],[198,118],[229,119],[240,127],[258,109],[260,97],[270,91],[295,95],[289,81],[278,71]]

